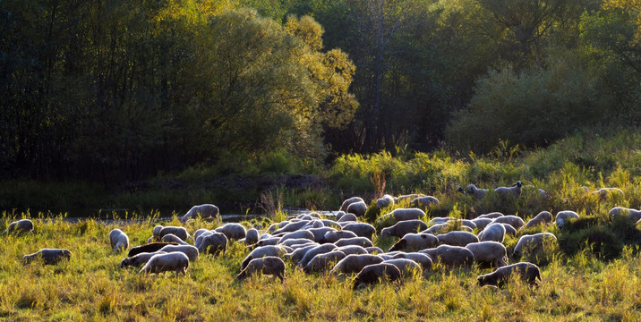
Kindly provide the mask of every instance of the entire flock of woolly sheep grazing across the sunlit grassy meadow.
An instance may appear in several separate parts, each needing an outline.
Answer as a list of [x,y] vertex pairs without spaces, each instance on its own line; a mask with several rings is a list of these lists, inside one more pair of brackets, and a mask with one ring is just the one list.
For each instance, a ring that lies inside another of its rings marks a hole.
[[[494,192],[501,198],[518,198],[522,187],[523,184],[517,182],[512,187],[499,187]],[[476,198],[483,198],[488,192],[472,184],[458,191]],[[617,192],[616,189],[606,189],[595,193],[601,195],[611,191]],[[542,198],[547,198],[545,191],[539,192]],[[528,284],[538,284],[542,278],[535,264],[508,264],[508,252],[503,244],[506,234],[516,235],[524,227],[551,225],[552,219],[554,225],[562,228],[569,220],[578,218],[574,211],[560,211],[554,217],[550,212],[542,211],[525,222],[519,216],[493,212],[469,220],[434,217],[424,222],[426,216],[422,208],[439,202],[432,196],[385,195],[376,200],[376,205],[389,208],[395,204],[406,205],[407,201],[413,208],[396,208],[379,218],[377,224],[383,226],[380,235],[398,239],[387,251],[373,245],[374,226],[358,221],[368,207],[363,199],[355,197],[343,202],[333,220],[312,212],[292,216],[262,232],[229,223],[214,230],[198,229],[191,235],[183,226],[158,225],[146,244],[129,250],[120,267],[141,267],[141,273],[149,274],[174,272],[176,276],[186,275],[190,262],[197,260],[200,254],[216,256],[225,252],[229,241],[234,240],[243,242],[248,251],[251,250],[239,267],[238,280],[262,274],[273,275],[282,282],[285,279],[285,262],[289,261],[308,274],[355,275],[351,281],[355,288],[359,288],[365,284],[421,276],[440,263],[440,269],[473,265],[493,267],[495,270],[490,274],[478,276],[480,285],[502,286],[510,275],[517,275]],[[197,216],[213,218],[218,213],[214,205],[194,206],[180,217],[180,221],[186,223]],[[641,220],[641,211],[617,207],[611,209],[610,216],[628,216],[637,222]],[[32,230],[33,223],[22,219],[9,225],[4,233],[28,233]],[[474,231],[480,233],[474,234]],[[127,234],[117,228],[109,233],[109,241],[114,251],[128,250],[130,246]],[[552,233],[524,234],[511,255],[521,258],[524,252],[545,250],[544,245],[553,242],[556,242],[556,236]],[[70,257],[69,250],[43,249],[25,255],[23,262],[27,264],[41,258],[44,264],[56,264]]]

